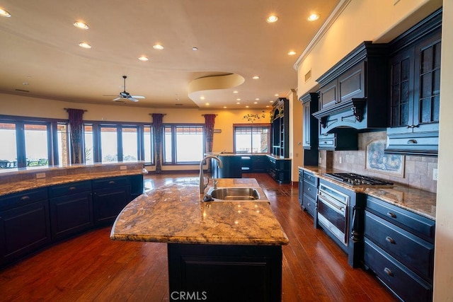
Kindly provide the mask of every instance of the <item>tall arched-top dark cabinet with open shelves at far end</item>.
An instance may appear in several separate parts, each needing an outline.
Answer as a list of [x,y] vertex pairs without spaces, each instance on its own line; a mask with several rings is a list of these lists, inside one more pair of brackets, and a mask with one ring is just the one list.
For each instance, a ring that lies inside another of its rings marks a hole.
[[279,158],[289,158],[289,100],[278,98],[272,115],[272,153]]

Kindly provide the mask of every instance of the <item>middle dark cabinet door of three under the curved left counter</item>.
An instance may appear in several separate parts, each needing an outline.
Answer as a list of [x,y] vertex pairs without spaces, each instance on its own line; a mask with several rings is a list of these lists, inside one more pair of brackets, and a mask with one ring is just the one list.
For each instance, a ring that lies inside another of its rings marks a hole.
[[50,199],[52,238],[62,239],[93,226],[91,191]]

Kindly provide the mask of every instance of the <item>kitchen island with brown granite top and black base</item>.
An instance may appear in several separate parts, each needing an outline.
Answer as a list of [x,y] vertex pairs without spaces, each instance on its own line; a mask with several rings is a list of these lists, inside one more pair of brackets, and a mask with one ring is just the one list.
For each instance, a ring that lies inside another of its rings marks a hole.
[[[217,187],[258,187],[251,178]],[[280,301],[282,245],[267,200],[202,202],[198,180],[147,191],[117,217],[113,240],[168,243],[170,295],[207,301]],[[206,300],[206,299],[205,299]]]

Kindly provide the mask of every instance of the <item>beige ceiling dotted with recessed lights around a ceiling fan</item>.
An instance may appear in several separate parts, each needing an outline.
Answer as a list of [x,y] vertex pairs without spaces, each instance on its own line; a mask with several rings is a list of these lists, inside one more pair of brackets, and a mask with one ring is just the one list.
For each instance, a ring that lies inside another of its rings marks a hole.
[[[275,94],[297,88],[294,62],[338,2],[0,0],[12,15],[0,17],[0,92],[149,108],[265,108]],[[321,18],[307,21],[314,12]],[[266,22],[270,13],[279,16],[277,23]],[[156,42],[164,50],[154,50]],[[289,56],[289,50],[297,54]],[[139,61],[142,55],[149,61]],[[245,81],[189,98],[190,82],[225,74]],[[144,99],[113,102],[124,89],[123,75],[126,91]],[[260,79],[253,80],[256,75]]]

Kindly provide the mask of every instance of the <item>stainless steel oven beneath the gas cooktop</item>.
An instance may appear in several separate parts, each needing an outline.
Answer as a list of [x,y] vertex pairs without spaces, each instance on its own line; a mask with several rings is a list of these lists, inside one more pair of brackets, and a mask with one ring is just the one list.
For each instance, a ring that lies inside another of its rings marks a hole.
[[318,223],[341,243],[348,246],[350,197],[338,190],[320,184],[318,189]]

